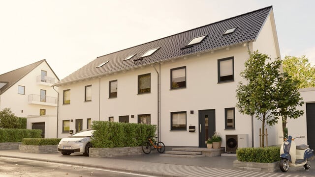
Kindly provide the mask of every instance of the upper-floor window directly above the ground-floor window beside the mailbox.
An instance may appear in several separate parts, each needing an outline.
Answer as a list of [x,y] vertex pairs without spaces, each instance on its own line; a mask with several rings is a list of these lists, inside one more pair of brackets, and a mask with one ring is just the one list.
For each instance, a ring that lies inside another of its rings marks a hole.
[[171,89],[186,88],[186,66],[171,69]]

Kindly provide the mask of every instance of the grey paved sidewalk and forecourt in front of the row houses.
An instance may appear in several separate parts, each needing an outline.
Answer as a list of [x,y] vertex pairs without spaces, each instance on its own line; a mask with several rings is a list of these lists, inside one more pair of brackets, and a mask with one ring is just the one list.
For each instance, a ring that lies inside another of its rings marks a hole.
[[32,160],[65,163],[77,166],[87,166],[141,173],[163,177],[315,177],[314,168],[305,171],[303,168],[290,168],[287,173],[266,173],[233,169],[236,157],[200,157],[176,158],[161,157],[158,153],[92,158],[82,155],[65,156],[60,153],[25,153],[18,150],[0,150],[0,156],[24,158]]

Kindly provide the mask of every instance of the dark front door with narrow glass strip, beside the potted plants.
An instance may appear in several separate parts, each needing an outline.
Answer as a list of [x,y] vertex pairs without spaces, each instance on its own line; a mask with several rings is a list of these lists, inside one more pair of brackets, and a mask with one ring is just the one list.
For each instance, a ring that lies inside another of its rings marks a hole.
[[199,147],[205,148],[206,141],[216,131],[216,110],[199,110]]

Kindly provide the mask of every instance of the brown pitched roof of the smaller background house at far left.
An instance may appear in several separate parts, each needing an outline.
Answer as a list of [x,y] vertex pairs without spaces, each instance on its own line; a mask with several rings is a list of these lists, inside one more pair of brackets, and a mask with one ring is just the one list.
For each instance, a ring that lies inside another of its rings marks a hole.
[[[2,93],[4,93],[7,89],[9,89],[12,85],[14,85],[16,82],[18,82],[20,79],[22,79],[24,76],[29,74],[34,68],[36,68],[42,62],[46,62],[46,60],[43,59],[43,60],[37,61],[35,63],[26,65],[24,67],[21,67],[21,68],[18,68],[16,70],[13,70],[13,71],[10,71],[10,72],[7,72],[7,73],[0,75],[0,95]],[[48,63],[47,63],[47,65],[48,65]],[[57,77],[57,79],[58,79],[58,77]],[[5,83],[5,85],[1,84],[1,83]],[[2,86],[2,85],[4,85],[4,86]]]

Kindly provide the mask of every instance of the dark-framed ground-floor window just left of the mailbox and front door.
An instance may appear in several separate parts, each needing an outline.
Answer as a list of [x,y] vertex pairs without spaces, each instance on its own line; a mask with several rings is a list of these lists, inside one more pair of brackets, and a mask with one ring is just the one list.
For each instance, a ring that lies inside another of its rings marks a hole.
[[187,112],[171,112],[171,130],[187,130]]

